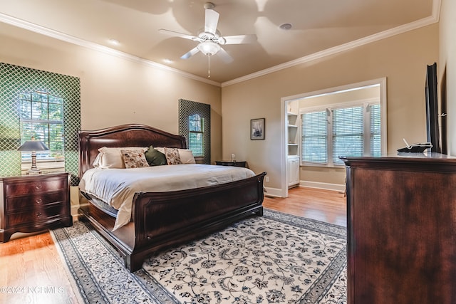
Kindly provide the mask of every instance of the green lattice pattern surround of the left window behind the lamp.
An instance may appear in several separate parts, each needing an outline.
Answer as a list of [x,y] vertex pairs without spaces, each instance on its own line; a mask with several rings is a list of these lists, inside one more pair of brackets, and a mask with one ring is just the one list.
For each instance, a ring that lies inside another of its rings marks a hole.
[[78,184],[81,81],[77,77],[0,63],[0,176],[21,174],[19,94],[42,91],[64,100],[65,170]]

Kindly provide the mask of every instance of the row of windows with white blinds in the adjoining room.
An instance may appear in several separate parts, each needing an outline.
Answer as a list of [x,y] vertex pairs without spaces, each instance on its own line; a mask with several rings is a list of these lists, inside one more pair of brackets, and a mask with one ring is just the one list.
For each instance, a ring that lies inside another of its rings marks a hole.
[[301,110],[303,164],[342,165],[340,156],[381,154],[380,104]]

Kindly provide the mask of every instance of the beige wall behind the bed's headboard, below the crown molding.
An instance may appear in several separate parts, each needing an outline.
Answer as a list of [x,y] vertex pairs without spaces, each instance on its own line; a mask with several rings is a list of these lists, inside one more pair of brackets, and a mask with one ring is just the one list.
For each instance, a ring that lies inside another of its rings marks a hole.
[[212,159],[222,155],[219,86],[0,23],[0,61],[81,78],[81,127],[142,123],[177,134],[178,100],[211,105]]

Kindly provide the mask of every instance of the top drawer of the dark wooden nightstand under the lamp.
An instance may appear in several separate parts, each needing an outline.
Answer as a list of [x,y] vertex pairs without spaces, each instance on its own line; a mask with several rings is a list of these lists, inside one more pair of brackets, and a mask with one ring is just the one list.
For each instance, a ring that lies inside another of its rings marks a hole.
[[5,196],[11,197],[24,194],[36,194],[59,189],[67,189],[67,179],[52,177],[47,179],[28,180],[27,182],[6,182]]

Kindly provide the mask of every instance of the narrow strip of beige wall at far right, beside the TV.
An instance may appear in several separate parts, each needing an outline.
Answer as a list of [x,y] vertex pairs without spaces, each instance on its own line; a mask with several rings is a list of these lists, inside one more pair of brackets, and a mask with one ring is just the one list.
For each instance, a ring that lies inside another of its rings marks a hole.
[[[440,58],[437,64],[439,87],[447,100],[448,154],[456,155],[456,1],[442,0],[440,9]],[[446,73],[446,80],[444,78]]]

